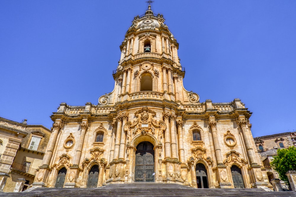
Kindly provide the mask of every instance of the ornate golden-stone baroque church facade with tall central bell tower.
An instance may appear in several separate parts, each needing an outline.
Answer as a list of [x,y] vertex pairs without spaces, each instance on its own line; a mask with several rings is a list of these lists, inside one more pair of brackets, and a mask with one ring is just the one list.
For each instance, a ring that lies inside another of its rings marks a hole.
[[178,43],[151,6],[120,45],[115,86],[98,105],[61,103],[33,186],[178,183],[272,187],[239,99],[199,101],[183,86]]

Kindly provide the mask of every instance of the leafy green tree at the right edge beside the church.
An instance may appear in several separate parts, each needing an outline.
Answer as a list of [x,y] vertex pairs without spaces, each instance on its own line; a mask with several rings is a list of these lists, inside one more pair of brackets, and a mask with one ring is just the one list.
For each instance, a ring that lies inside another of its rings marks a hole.
[[288,149],[279,149],[270,164],[279,173],[279,178],[289,184],[286,173],[289,170],[296,170],[296,148],[290,146]]

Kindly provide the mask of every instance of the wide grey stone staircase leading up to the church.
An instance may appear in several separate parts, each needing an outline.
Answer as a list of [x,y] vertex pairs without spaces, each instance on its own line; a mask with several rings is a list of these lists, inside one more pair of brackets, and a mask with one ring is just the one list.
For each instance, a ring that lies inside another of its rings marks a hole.
[[294,191],[263,189],[196,189],[168,183],[109,184],[99,188],[31,188],[18,193],[0,193],[1,197],[296,197]]

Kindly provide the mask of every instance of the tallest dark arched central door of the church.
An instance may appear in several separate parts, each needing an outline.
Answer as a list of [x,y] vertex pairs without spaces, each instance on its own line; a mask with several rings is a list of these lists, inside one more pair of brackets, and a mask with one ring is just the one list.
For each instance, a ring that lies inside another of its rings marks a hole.
[[135,182],[154,182],[154,150],[153,144],[143,141],[137,146]]

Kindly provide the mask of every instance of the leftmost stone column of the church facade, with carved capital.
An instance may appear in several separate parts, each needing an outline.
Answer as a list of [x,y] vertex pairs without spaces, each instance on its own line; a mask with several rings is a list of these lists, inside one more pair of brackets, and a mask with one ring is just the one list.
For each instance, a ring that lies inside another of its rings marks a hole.
[[59,123],[54,123],[53,128],[54,128],[54,131],[52,132],[52,134],[50,136],[49,143],[47,145],[46,154],[44,155],[43,160],[42,160],[42,165],[49,166],[50,160],[52,159],[52,151],[53,151],[54,145],[57,141],[57,134],[58,134],[59,130],[62,128],[62,125]]

